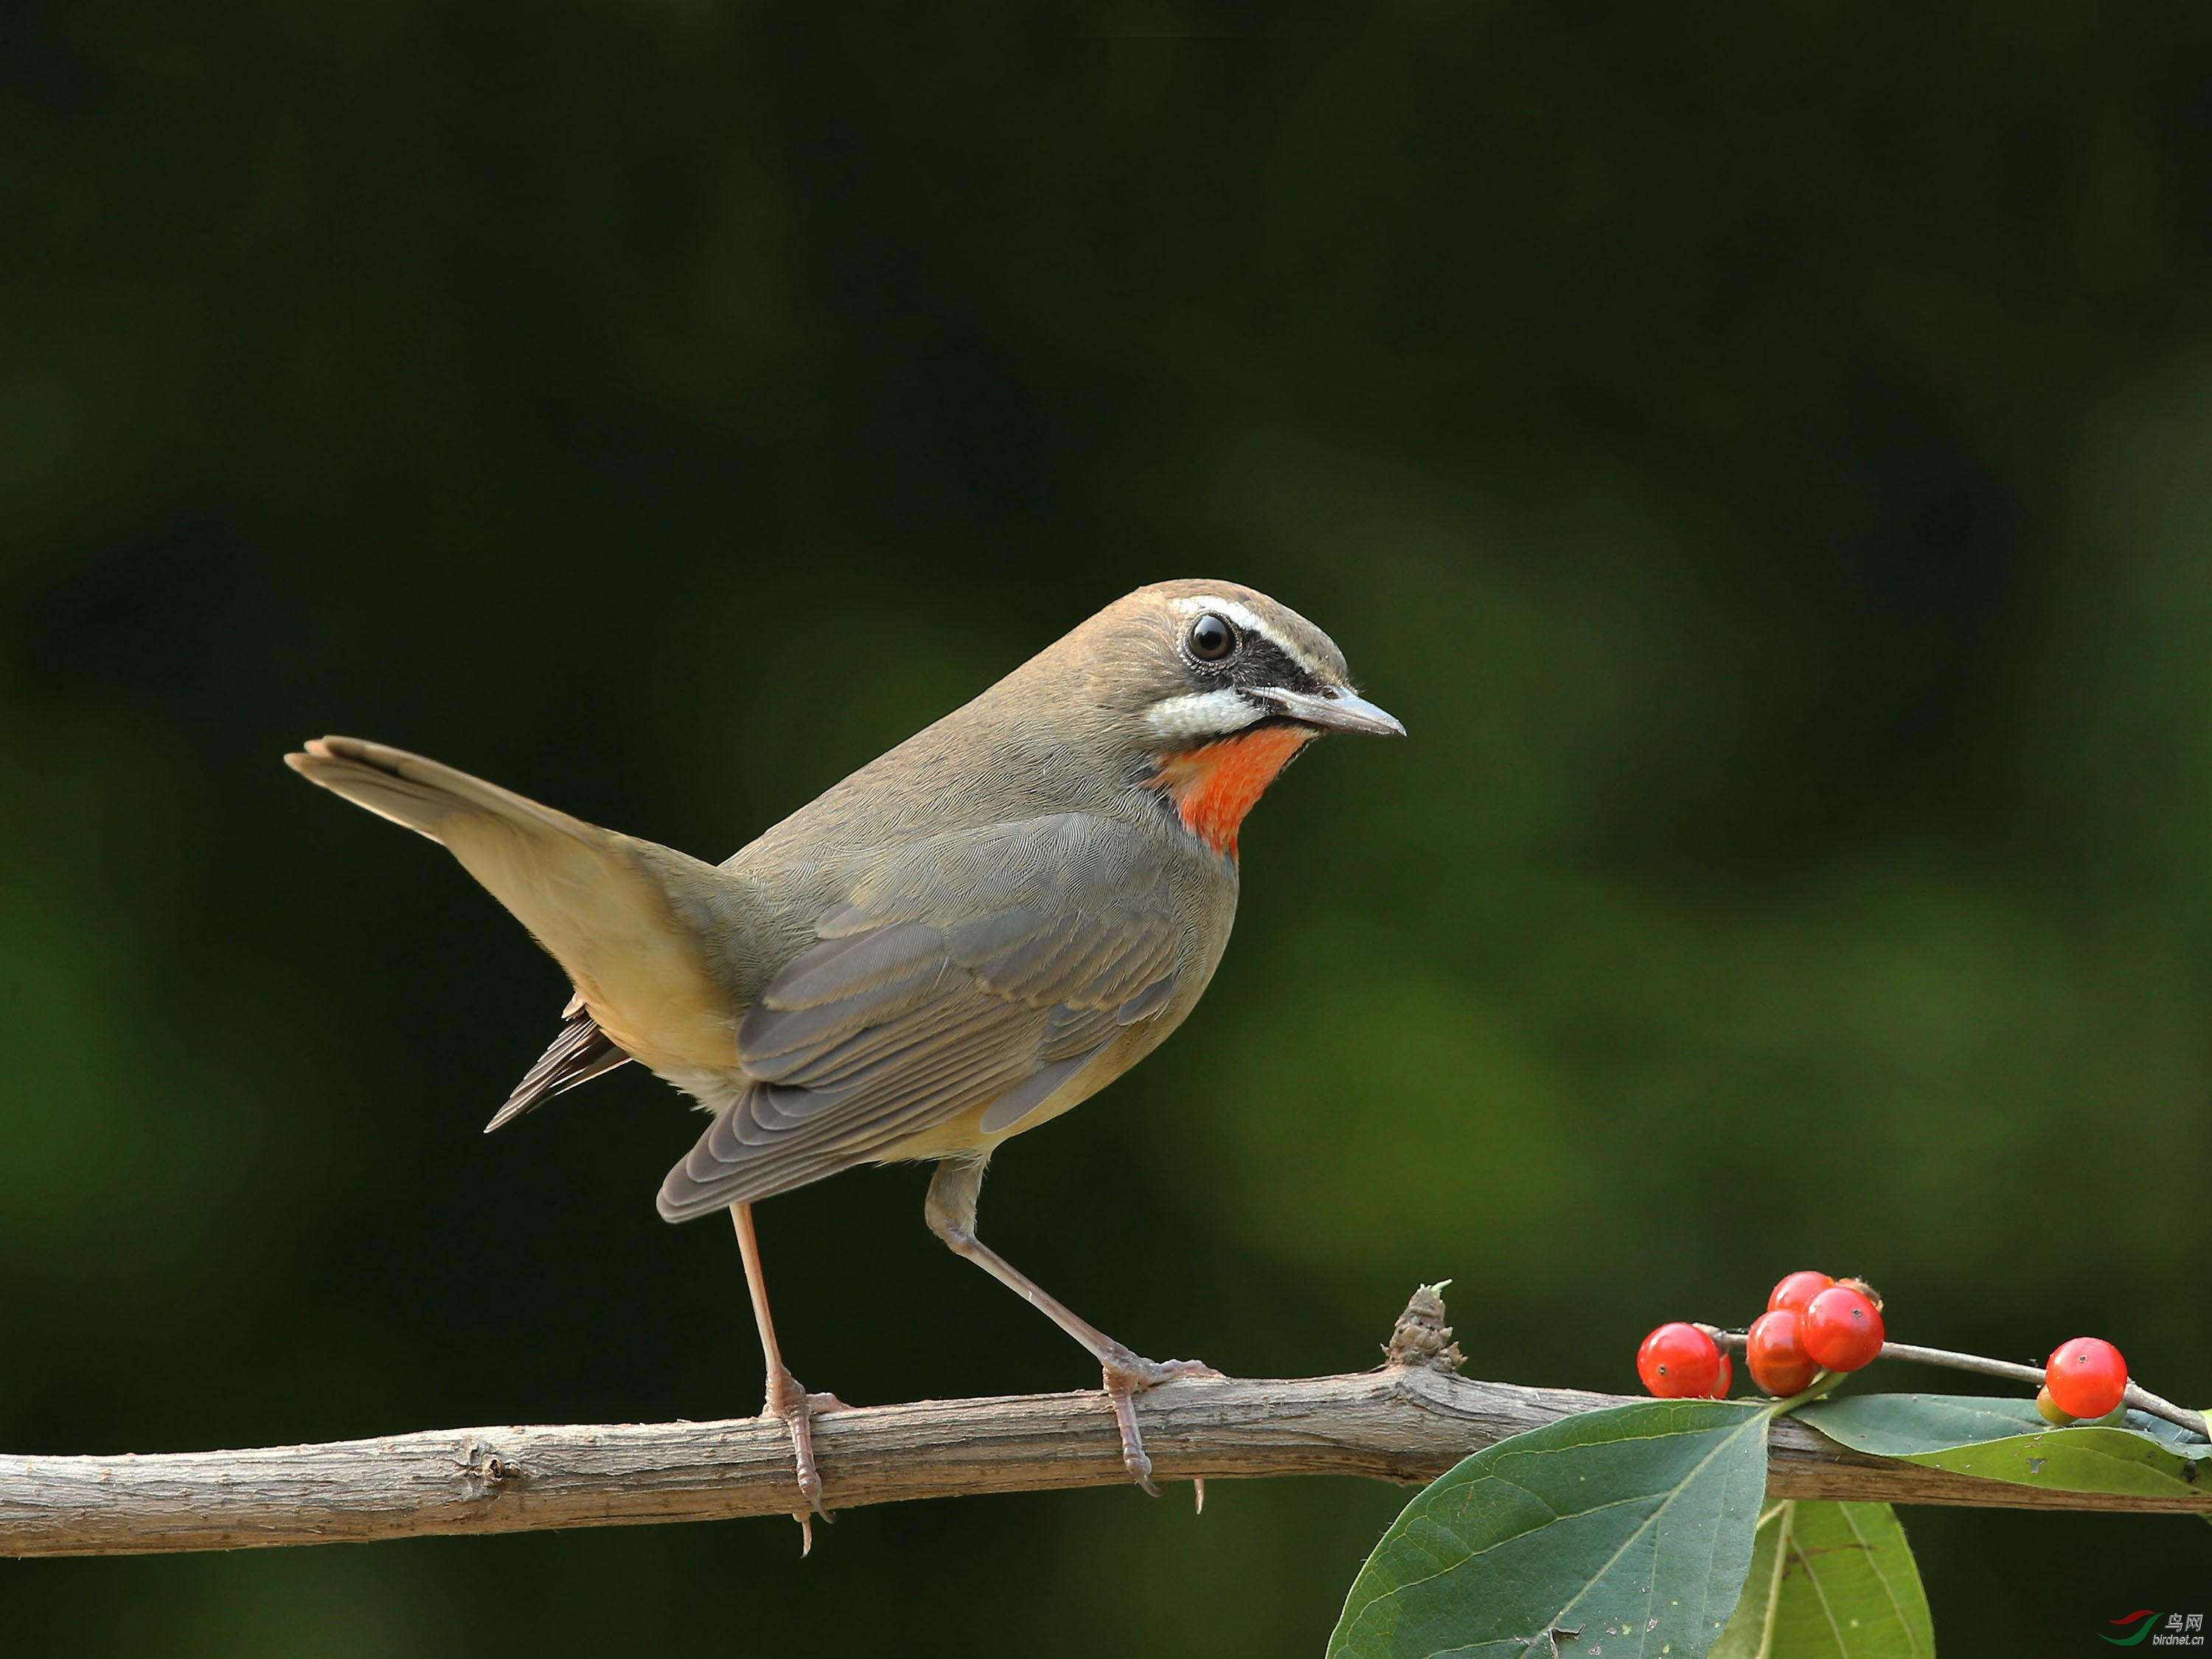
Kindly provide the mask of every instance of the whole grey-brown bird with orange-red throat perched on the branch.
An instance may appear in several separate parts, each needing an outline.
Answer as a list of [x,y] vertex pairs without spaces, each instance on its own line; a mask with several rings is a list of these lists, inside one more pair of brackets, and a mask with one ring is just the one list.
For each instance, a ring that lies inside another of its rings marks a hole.
[[728,1212],[812,1546],[816,1413],[783,1363],[752,1206],[860,1164],[933,1161],[925,1221],[1102,1369],[1148,1493],[1148,1360],[982,1243],[991,1155],[1192,1011],[1228,947],[1239,832],[1316,737],[1402,737],[1336,644],[1267,595],[1157,582],[869,761],[721,865],[420,754],[321,737],[285,761],[438,841],[566,971],[560,1035],[484,1133],[637,1062],[712,1115],[659,1212]]

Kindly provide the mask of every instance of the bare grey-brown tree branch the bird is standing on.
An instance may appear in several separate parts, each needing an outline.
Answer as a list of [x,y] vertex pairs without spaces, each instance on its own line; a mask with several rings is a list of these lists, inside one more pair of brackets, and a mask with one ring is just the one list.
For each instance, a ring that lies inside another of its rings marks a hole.
[[[1436,1314],[1440,1325],[1440,1303]],[[1407,1327],[1400,1321],[1400,1338]],[[1137,1402],[1157,1478],[1422,1482],[1493,1440],[1621,1402],[1436,1369],[1455,1358],[1440,1352],[1449,1336],[1427,1349],[1394,1340],[1394,1363],[1358,1376],[1168,1383]],[[832,1509],[1128,1482],[1113,1409],[1097,1391],[856,1407],[816,1418],[814,1447]],[[2013,1486],[1845,1451],[1787,1418],[1774,1425],[1767,1460],[1774,1498],[2212,1513],[2212,1491],[2119,1498]],[[0,1555],[637,1526],[796,1506],[790,1440],[765,1418],[442,1429],[257,1451],[0,1455]]]

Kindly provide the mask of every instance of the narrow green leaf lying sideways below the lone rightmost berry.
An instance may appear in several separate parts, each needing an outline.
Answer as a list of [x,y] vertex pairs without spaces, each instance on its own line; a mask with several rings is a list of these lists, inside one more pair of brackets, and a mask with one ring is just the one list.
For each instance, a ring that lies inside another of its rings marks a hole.
[[2128,1413],[2124,1429],[2053,1429],[2026,1400],[1856,1394],[1816,1400],[1796,1416],[1851,1451],[2017,1486],[2137,1498],[2212,1491],[2205,1480],[2212,1444],[2139,1411]]

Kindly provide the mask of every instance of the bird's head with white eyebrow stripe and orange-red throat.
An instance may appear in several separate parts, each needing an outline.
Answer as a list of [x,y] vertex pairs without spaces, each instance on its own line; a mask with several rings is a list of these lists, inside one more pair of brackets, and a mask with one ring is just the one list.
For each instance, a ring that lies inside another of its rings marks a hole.
[[1405,737],[1352,688],[1334,639],[1234,582],[1137,588],[1046,655],[1062,653],[1064,688],[1128,774],[1232,858],[1243,816],[1312,739]]

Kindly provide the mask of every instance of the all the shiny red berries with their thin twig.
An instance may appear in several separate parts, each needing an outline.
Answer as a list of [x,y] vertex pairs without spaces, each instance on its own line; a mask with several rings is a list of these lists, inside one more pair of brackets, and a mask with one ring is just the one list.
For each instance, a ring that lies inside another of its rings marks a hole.
[[[1674,1321],[1644,1338],[1637,1376],[1661,1400],[1719,1400],[1734,1383],[1734,1365],[1721,1352],[1721,1332]],[[1889,1340],[1882,1329],[1882,1298],[1863,1279],[1829,1279],[1816,1272],[1785,1276],[1767,1296],[1767,1312],[1743,1336],[1743,1363],[1752,1380],[1778,1400],[1805,1394],[1823,1376],[1871,1365]],[[1966,1354],[1907,1349],[1905,1358],[2020,1376],[2024,1367],[1975,1360]],[[2033,1371],[2028,1374],[2033,1376]],[[2128,1363],[2101,1336],[2077,1336],[2053,1349],[2044,1365],[2044,1387],[2035,1409],[2059,1427],[2068,1422],[2119,1422],[2128,1394]],[[2141,1398],[2141,1396],[2139,1396]],[[2150,1405],[2170,1413],[2150,1396]],[[2183,1418],[2185,1420],[2185,1418]]]

